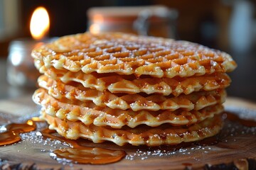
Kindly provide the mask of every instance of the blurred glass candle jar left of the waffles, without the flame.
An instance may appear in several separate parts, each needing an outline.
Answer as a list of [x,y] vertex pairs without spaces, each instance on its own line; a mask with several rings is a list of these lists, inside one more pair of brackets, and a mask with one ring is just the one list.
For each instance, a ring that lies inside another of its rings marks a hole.
[[18,39],[9,45],[7,60],[7,81],[12,86],[35,87],[40,73],[33,64],[31,51],[34,47],[42,45],[31,39]]

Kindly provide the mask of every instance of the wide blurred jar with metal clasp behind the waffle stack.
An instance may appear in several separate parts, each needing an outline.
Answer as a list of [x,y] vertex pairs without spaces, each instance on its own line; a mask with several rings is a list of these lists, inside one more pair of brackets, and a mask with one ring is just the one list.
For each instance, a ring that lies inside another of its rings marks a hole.
[[178,12],[166,6],[95,7],[87,11],[91,33],[123,32],[176,38]]

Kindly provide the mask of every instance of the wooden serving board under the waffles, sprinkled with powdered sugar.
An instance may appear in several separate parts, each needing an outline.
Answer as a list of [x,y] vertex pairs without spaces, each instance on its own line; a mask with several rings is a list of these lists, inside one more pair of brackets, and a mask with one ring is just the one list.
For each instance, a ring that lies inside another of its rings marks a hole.
[[[240,98],[228,98],[227,111],[243,118],[256,121],[256,104]],[[0,125],[25,121],[38,115],[39,107],[33,104],[31,96],[15,100],[0,101]],[[46,126],[38,124],[38,130]],[[0,147],[0,167],[11,166],[16,169],[203,169],[218,164],[248,164],[245,159],[256,159],[256,127],[246,127],[238,122],[225,120],[219,135],[202,142],[186,143],[176,146],[119,147],[110,142],[94,144],[80,140],[86,147],[119,149],[127,152],[120,162],[105,165],[60,163],[50,157],[50,151],[67,147],[63,143],[43,139],[38,130],[21,135],[21,142]],[[252,163],[250,163],[252,164]],[[250,165],[252,166],[252,165]]]

